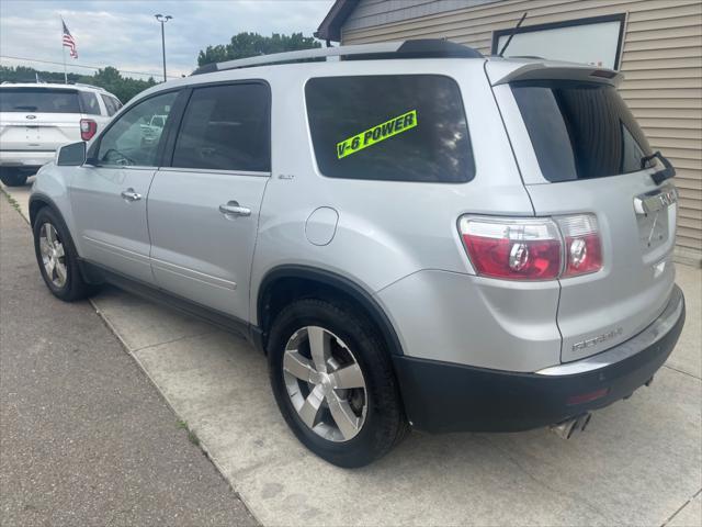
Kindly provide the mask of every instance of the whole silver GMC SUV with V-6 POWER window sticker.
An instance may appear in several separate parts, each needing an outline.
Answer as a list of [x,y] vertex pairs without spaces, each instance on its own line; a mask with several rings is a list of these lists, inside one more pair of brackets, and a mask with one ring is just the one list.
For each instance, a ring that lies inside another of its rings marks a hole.
[[672,350],[675,169],[620,74],[443,41],[196,74],[39,171],[39,269],[63,300],[110,282],[241,332],[324,459],[411,427],[567,437]]

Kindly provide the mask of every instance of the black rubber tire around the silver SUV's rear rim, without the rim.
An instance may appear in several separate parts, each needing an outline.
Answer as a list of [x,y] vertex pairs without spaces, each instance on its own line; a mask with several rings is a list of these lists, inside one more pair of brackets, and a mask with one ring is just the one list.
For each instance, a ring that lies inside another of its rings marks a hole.
[[[320,326],[338,336],[353,354],[366,390],[365,421],[349,440],[322,438],[299,417],[288,395],[283,357],[288,339],[301,328]],[[344,468],[363,467],[387,453],[409,431],[389,354],[365,316],[344,303],[305,299],[275,317],[268,341],[271,385],[278,406],[303,445],[320,458]]]

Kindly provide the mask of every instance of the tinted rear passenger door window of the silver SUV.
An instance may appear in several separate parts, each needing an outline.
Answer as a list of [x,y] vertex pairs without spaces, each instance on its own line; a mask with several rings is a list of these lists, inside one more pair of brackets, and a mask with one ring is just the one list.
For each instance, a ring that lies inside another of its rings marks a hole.
[[269,171],[269,89],[261,83],[196,88],[176,142],[173,167]]

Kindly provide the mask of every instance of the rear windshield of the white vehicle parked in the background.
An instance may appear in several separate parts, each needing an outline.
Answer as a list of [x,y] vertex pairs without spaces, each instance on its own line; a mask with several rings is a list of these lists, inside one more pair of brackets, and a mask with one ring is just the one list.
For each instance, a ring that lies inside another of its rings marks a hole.
[[81,113],[78,91],[50,88],[0,88],[0,112]]

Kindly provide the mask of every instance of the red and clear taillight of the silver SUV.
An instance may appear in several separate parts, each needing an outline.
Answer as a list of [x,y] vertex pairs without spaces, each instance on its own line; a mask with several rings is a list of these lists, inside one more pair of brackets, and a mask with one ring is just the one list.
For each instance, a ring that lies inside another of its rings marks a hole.
[[553,280],[602,267],[592,214],[555,218],[463,216],[458,231],[476,273],[483,277]]

